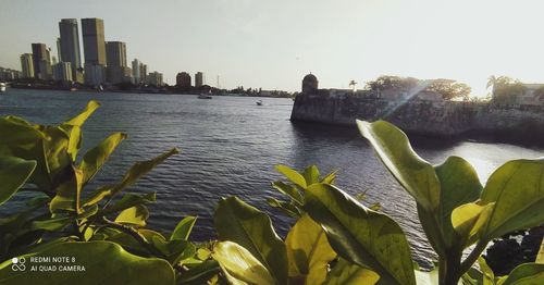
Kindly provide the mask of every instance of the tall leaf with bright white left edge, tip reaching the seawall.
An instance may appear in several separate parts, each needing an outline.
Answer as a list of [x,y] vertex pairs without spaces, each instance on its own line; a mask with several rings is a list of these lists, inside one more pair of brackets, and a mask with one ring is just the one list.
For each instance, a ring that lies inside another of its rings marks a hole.
[[433,166],[413,151],[405,133],[385,121],[357,121],[357,125],[385,166],[418,205],[435,212],[441,197],[438,178]]

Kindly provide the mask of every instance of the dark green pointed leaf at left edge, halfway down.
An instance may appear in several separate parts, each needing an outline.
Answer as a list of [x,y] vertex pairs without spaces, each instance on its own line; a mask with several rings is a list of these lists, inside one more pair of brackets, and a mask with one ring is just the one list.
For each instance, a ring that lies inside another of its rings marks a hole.
[[0,205],[23,187],[36,169],[36,161],[0,157]]

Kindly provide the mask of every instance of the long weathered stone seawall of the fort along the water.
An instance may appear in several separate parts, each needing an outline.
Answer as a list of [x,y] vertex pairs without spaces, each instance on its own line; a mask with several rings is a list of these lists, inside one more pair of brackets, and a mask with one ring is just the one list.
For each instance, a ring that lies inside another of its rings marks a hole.
[[483,102],[385,100],[353,95],[296,97],[293,122],[355,125],[355,120],[385,120],[407,133],[429,136],[500,136],[544,139],[544,107]]

